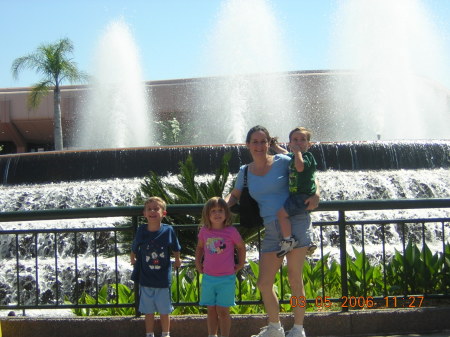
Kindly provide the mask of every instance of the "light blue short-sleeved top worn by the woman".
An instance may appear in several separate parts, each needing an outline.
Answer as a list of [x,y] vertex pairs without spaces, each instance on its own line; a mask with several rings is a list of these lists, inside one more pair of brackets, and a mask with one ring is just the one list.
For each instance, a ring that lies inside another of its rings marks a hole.
[[[289,196],[288,177],[290,158],[277,154],[273,158],[270,171],[264,176],[256,176],[248,170],[247,184],[250,195],[258,202],[259,212],[264,223],[270,223],[277,218],[278,210],[283,207]],[[235,188],[244,188],[244,166],[241,166]]]

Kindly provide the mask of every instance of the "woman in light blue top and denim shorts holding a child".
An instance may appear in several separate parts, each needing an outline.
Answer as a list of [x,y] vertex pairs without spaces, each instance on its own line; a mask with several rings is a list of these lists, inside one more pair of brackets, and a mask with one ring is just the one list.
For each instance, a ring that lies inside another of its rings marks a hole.
[[[253,161],[248,165],[248,188],[250,195],[258,202],[260,215],[264,220],[264,239],[261,245],[261,259],[259,261],[259,276],[257,286],[261,291],[264,307],[269,324],[261,329],[255,337],[284,337],[284,329],[280,323],[279,303],[273,289],[275,275],[280,269],[283,257],[277,257],[281,240],[280,225],[277,212],[286,201],[288,190],[288,165],[290,158],[278,154],[268,153],[272,138],[267,129],[257,125],[248,131],[246,144]],[[244,167],[241,167],[233,191],[226,197],[229,206],[239,201],[244,184]],[[316,208],[319,204],[319,192],[306,200],[307,210]],[[311,220],[309,212],[290,218],[292,231],[296,237],[301,237],[298,246],[286,255],[288,279],[292,289],[292,296],[297,299],[305,298],[303,287],[303,264],[307,247],[311,243]],[[305,224],[307,224],[305,226]],[[298,236],[297,236],[298,235]],[[306,303],[305,303],[306,304]],[[296,306],[294,312],[294,327],[288,337],[304,337],[303,320],[305,307]]]

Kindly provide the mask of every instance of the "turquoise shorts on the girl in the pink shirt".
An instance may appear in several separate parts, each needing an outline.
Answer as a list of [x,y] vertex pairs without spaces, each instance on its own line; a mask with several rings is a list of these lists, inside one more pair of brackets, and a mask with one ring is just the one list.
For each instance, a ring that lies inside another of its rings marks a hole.
[[211,276],[203,274],[200,305],[231,307],[236,291],[236,275]]

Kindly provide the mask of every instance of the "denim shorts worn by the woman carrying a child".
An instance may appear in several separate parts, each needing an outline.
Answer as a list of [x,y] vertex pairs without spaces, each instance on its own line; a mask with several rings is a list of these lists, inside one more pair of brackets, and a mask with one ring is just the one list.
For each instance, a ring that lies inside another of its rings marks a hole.
[[[292,235],[298,240],[294,248],[309,247],[312,243],[312,226],[309,212],[289,217],[292,227]],[[261,243],[261,252],[277,252],[280,250],[280,242],[283,239],[278,220],[264,224],[265,234]]]

